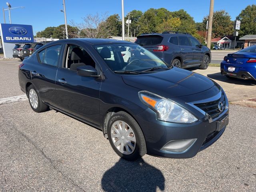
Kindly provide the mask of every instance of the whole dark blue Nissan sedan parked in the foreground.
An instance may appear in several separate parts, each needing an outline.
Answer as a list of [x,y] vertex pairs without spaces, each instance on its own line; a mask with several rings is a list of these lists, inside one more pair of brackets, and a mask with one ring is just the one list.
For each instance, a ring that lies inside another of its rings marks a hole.
[[25,59],[18,74],[32,110],[54,109],[100,128],[126,160],[191,158],[228,124],[228,99],[216,82],[131,42],[59,40]]

